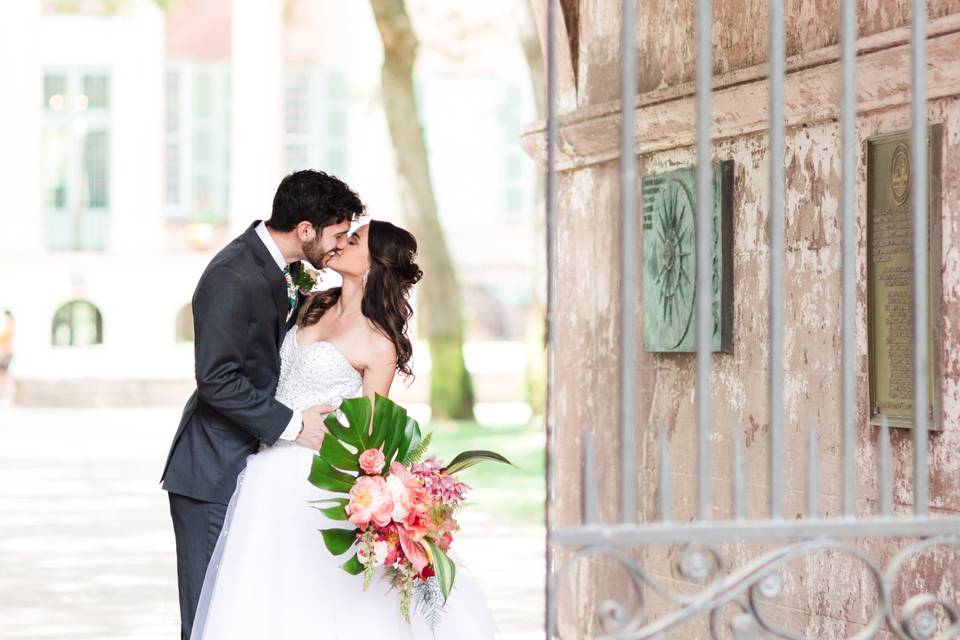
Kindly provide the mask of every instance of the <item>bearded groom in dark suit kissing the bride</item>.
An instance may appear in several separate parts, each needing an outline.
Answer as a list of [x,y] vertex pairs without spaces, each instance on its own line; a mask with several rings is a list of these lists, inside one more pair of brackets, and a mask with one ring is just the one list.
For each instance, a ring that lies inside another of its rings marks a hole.
[[214,256],[197,283],[197,390],[184,408],[161,477],[177,539],[184,639],[190,637],[207,564],[247,456],[280,438],[320,448],[323,418],[332,408],[301,413],[274,399],[279,349],[296,318],[300,261],[325,267],[346,246],[350,224],[363,209],[357,194],[337,178],[293,173],[277,188],[270,219],[253,223]]

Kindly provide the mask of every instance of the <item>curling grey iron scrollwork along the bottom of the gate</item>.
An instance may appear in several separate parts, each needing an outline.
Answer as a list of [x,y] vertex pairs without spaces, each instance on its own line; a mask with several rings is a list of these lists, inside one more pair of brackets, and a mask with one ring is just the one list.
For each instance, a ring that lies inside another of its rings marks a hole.
[[[607,545],[576,550],[554,576],[556,591],[573,566],[581,561],[604,557],[614,560],[629,577],[635,603],[606,600],[599,606],[597,618],[604,640],[626,638],[665,638],[685,623],[709,616],[710,635],[721,638],[773,637],[786,640],[807,640],[797,631],[775,625],[764,613],[763,603],[774,601],[784,589],[783,570],[791,561],[812,554],[830,551],[859,563],[875,587],[876,603],[872,614],[849,640],[866,640],[885,628],[902,640],[945,640],[960,637],[960,609],[957,603],[934,593],[917,593],[893,601],[895,587],[900,584],[901,569],[921,553],[937,546],[960,550],[960,535],[937,536],[904,547],[884,570],[863,550],[837,540],[818,538],[804,540],[764,553],[742,566],[729,569],[720,551],[709,545],[686,545],[678,555],[676,568],[683,578],[699,585],[693,594],[671,591],[654,579],[628,551]],[[647,595],[655,594],[673,607],[665,615],[652,618],[647,612]],[[625,599],[624,599],[625,600]],[[737,613],[721,615],[727,607]],[[550,621],[551,637],[557,634],[557,620]],[[680,637],[680,636],[677,636]]]

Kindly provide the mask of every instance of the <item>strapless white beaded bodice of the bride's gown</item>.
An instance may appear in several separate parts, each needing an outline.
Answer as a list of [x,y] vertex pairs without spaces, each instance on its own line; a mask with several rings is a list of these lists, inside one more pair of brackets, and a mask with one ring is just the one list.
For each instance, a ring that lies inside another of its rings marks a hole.
[[357,395],[363,379],[346,356],[330,342],[297,343],[294,326],[280,347],[277,400],[291,409],[316,405],[338,406]]

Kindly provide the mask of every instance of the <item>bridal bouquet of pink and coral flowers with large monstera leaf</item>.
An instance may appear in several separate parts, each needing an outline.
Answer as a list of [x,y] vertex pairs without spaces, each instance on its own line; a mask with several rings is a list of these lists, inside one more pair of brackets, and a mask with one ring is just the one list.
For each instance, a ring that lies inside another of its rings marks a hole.
[[344,497],[318,506],[328,518],[353,528],[321,530],[334,555],[354,550],[342,566],[363,574],[366,589],[374,570],[400,592],[400,609],[410,622],[410,605],[432,622],[453,588],[456,566],[447,556],[454,518],[467,493],[456,474],[478,462],[510,464],[493,451],[464,451],[449,464],[426,457],[432,434],[421,436],[403,407],[377,396],[371,420],[369,398],[344,400],[340,414],[327,417],[330,433],[314,456],[310,482]]

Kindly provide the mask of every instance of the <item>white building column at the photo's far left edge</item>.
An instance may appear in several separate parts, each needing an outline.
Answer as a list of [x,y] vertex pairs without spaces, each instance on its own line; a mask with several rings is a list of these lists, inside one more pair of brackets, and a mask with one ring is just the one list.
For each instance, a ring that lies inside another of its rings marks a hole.
[[0,259],[22,263],[44,251],[41,158],[43,74],[40,0],[0,5]]

